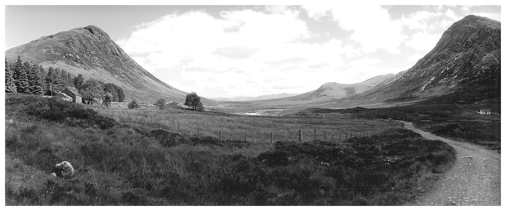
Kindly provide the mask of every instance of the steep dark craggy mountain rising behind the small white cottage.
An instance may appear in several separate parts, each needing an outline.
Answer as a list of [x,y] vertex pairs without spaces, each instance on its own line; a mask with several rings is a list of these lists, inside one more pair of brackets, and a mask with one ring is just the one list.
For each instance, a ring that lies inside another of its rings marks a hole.
[[452,24],[436,46],[397,80],[362,94],[313,106],[396,103],[473,103],[500,97],[501,23],[469,15]]

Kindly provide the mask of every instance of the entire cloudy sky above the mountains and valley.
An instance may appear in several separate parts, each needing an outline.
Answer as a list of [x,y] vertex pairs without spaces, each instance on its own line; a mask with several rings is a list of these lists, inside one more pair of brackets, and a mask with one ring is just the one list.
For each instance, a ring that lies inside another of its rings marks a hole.
[[5,49],[96,25],[177,89],[259,96],[396,74],[463,17],[501,19],[500,6],[301,5],[6,6]]

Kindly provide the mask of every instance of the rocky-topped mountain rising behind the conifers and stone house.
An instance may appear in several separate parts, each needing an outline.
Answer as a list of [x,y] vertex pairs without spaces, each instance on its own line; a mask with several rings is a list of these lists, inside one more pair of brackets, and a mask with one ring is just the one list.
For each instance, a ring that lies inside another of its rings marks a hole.
[[[6,50],[8,59],[18,56],[24,61],[67,70],[85,79],[95,78],[118,85],[127,99],[154,101],[164,97],[170,101],[184,101],[186,92],[180,91],[154,77],[129,55],[109,35],[97,26],[78,27],[40,37],[26,44]],[[203,102],[212,102],[203,99]]]

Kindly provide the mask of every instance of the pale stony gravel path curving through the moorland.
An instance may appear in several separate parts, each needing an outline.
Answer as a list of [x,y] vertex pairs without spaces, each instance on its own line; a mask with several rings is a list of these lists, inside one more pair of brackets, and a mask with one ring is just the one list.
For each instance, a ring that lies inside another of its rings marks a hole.
[[427,139],[444,141],[457,151],[455,166],[434,190],[405,205],[501,205],[501,155],[471,143],[443,138],[403,122]]

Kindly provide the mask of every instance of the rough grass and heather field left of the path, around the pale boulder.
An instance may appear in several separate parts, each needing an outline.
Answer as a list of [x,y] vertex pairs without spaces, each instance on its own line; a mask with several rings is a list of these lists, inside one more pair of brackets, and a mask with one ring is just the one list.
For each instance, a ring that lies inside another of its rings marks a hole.
[[[449,145],[396,122],[346,114],[93,108],[7,94],[6,205],[399,205],[430,190],[455,159]],[[303,142],[298,129],[310,133]],[[76,176],[49,176],[62,161]]]

